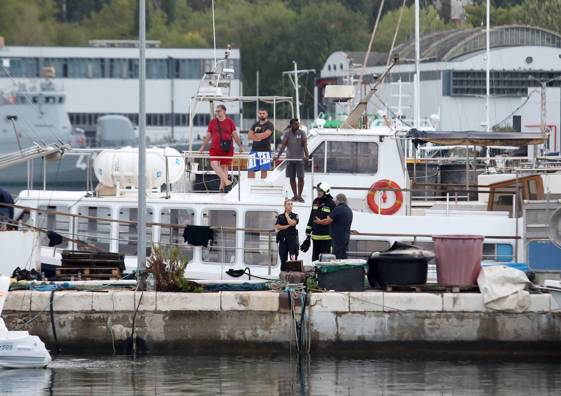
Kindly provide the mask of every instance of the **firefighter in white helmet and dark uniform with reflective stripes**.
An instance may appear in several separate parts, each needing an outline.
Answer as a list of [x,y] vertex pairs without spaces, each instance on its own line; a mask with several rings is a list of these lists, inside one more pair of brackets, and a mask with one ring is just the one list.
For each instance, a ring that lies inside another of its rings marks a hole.
[[331,237],[329,236],[329,225],[314,223],[315,218],[325,219],[331,211],[337,207],[331,196],[329,183],[321,182],[316,187],[318,197],[312,202],[312,211],[306,227],[306,236],[311,234],[313,243],[312,261],[318,260],[322,253],[331,252]]

